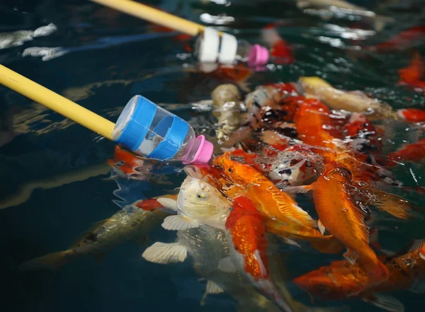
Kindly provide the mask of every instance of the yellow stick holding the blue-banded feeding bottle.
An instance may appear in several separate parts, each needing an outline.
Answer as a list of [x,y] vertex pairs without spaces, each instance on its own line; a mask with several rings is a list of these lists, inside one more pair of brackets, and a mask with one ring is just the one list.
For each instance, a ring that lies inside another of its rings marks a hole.
[[51,110],[60,113],[64,117],[78,122],[81,126],[91,129],[106,139],[113,140],[112,132],[115,124],[77,103],[40,86],[38,83],[21,76],[20,74],[0,65],[0,83],[23,96],[45,105]]

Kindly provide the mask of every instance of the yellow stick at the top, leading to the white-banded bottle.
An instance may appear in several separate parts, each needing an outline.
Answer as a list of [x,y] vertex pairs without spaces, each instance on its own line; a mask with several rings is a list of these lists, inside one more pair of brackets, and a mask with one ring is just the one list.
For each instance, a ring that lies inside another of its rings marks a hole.
[[[103,4],[103,6],[109,6],[110,8],[115,8],[115,10],[128,13],[137,18],[142,18],[146,21],[149,21],[154,24],[163,25],[165,27],[179,31],[180,33],[187,33],[188,35],[196,36],[198,33],[202,33],[205,26],[198,23],[193,23],[191,21],[185,20],[184,18],[179,18],[170,13],[165,13],[158,10],[157,8],[152,8],[146,6],[145,4],[140,4],[135,1],[130,0],[91,0],[98,4]],[[222,35],[222,33],[219,33]]]

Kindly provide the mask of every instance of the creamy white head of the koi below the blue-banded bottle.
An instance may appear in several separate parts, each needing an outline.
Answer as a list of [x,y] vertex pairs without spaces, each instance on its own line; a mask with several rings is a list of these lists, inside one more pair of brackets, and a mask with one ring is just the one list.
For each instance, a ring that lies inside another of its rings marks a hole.
[[216,187],[188,176],[181,185],[177,207],[183,216],[198,223],[224,224],[231,204]]

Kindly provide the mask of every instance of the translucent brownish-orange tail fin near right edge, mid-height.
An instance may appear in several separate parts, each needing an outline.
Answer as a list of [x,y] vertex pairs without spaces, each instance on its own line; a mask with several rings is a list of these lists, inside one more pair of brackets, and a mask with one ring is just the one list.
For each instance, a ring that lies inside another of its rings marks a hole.
[[370,204],[398,219],[412,219],[414,217],[413,212],[425,212],[421,207],[404,200],[398,195],[376,189],[368,189],[368,192],[373,195]]

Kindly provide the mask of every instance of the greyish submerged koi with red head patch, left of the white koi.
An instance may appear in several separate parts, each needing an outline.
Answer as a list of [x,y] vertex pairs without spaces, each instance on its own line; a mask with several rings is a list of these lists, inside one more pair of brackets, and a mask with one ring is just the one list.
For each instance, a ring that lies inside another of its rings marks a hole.
[[43,255],[24,262],[21,270],[57,270],[67,262],[93,256],[97,261],[105,257],[115,246],[135,240],[145,244],[147,233],[159,226],[172,213],[176,196],[165,195],[150,200],[138,200],[104,221],[97,222],[69,249]]

